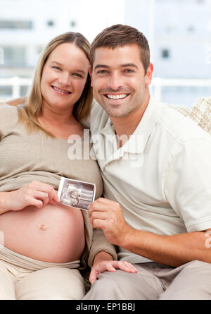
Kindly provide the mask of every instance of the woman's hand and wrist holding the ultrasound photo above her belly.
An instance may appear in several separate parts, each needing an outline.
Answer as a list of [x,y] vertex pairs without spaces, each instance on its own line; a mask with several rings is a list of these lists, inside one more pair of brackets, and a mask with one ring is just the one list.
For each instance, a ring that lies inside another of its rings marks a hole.
[[38,208],[48,203],[58,203],[57,191],[49,184],[32,181],[26,186],[11,192],[1,193],[1,212],[23,210],[33,205]]

